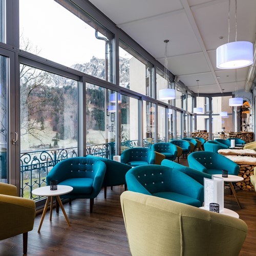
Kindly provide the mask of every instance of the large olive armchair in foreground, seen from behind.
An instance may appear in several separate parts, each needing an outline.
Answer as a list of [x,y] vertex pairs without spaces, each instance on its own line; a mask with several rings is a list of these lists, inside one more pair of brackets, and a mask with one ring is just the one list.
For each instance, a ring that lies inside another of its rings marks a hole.
[[133,256],[234,256],[247,234],[238,218],[133,191],[121,207]]

